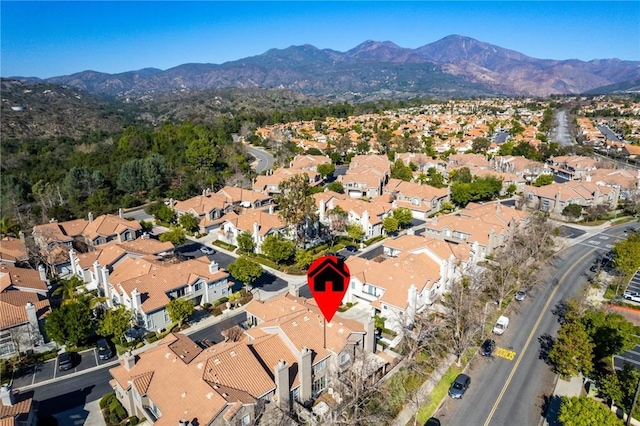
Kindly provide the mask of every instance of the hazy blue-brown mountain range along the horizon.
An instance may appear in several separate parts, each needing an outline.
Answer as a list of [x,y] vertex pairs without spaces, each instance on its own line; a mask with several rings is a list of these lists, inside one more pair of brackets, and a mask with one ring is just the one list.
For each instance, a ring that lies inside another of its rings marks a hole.
[[365,41],[346,52],[311,45],[271,49],[223,64],[183,64],[119,74],[83,71],[29,82],[55,83],[95,95],[139,99],[176,91],[225,87],[279,88],[344,100],[474,95],[579,94],[637,85],[640,61],[536,59],[452,35],[409,49]]

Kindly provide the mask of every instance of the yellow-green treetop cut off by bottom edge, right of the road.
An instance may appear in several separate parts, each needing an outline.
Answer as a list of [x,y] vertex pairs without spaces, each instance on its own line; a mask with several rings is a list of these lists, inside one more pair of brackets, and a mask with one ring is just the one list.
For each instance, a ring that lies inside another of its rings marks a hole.
[[562,426],[622,426],[609,407],[585,396],[563,396],[558,421]]

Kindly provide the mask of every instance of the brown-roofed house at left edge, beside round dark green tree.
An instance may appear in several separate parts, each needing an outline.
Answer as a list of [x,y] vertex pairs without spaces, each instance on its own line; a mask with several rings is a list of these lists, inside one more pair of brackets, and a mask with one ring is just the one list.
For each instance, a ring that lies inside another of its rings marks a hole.
[[42,321],[51,310],[48,285],[44,268],[0,265],[0,357],[44,343]]

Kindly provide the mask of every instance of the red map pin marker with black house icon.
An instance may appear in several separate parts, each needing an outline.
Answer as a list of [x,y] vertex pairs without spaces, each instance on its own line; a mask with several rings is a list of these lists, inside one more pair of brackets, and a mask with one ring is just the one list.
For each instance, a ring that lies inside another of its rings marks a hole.
[[307,272],[307,283],[324,318],[331,322],[349,288],[351,274],[344,260],[335,256],[316,259]]

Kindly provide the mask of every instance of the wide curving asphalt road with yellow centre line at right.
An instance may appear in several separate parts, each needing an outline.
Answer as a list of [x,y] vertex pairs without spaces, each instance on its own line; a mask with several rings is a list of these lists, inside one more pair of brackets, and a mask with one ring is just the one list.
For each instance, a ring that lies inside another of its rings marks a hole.
[[[436,417],[451,426],[538,425],[553,392],[555,374],[545,363],[546,348],[557,334],[557,309],[586,282],[597,256],[608,251],[628,225],[576,244],[550,265],[549,279],[507,311],[511,322],[496,345],[516,352],[512,361],[476,356],[467,373],[471,386],[462,400],[446,398]],[[637,226],[635,224],[634,226]]]

